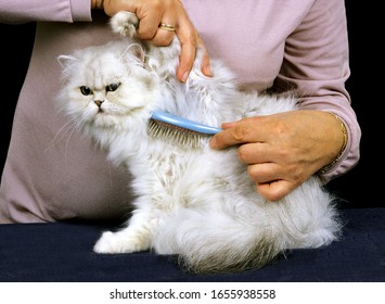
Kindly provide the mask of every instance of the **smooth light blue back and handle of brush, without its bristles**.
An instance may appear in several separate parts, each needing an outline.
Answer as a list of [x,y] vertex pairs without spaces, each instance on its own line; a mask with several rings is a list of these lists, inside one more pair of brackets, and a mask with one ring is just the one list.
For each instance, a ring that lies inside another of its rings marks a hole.
[[200,134],[207,134],[207,135],[215,135],[219,131],[221,131],[221,128],[216,128],[216,127],[210,127],[206,126],[193,121],[185,119],[183,117],[166,113],[166,112],[161,112],[161,111],[154,111],[152,116],[152,119],[167,123],[174,126],[178,126],[184,129],[193,130]]

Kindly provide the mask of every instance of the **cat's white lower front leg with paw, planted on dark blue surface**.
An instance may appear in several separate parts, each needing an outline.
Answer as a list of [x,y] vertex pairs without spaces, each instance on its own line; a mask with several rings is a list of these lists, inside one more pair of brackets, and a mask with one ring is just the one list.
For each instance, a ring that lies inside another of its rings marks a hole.
[[134,214],[128,227],[113,232],[105,231],[97,241],[97,253],[131,253],[150,249],[152,241],[152,220],[144,214]]

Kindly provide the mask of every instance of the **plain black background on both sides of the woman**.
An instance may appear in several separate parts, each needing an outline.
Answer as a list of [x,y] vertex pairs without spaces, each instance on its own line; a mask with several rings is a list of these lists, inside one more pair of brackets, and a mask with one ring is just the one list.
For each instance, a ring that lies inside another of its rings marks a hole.
[[[361,159],[346,175],[332,180],[328,187],[345,201],[342,207],[385,206],[382,181],[382,103],[384,93],[380,85],[383,72],[383,55],[380,47],[383,33],[375,8],[365,8],[359,1],[346,1],[351,77],[347,88],[362,129]],[[378,10],[378,8],[377,8]],[[33,48],[35,24],[0,24],[1,59],[1,128],[0,168],[7,156],[11,136],[13,113],[20,88],[27,69]],[[378,72],[376,72],[378,71]],[[376,75],[376,76],[374,76]],[[37,88],[38,89],[38,88]]]

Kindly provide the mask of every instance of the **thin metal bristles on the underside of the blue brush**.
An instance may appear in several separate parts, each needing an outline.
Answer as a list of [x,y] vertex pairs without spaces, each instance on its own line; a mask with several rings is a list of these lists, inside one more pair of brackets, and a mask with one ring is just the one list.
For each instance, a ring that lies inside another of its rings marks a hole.
[[150,119],[149,134],[154,138],[192,149],[200,148],[202,145],[202,139],[207,137],[207,135],[197,131],[154,119]]

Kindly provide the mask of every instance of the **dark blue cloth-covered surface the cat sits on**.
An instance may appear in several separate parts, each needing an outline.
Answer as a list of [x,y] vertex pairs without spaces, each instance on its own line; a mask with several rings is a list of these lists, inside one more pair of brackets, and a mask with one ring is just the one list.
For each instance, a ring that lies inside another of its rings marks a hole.
[[0,225],[0,281],[385,281],[385,208],[342,213],[343,238],[330,246],[295,250],[258,270],[210,276],[185,274],[170,256],[150,252],[95,254],[105,228],[98,225]]

